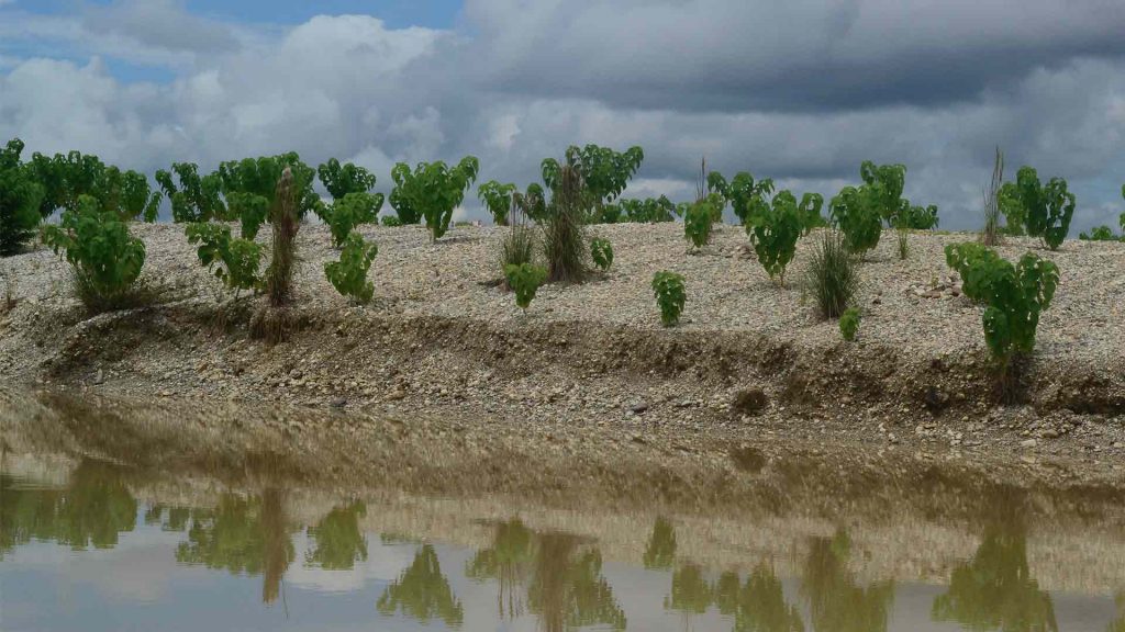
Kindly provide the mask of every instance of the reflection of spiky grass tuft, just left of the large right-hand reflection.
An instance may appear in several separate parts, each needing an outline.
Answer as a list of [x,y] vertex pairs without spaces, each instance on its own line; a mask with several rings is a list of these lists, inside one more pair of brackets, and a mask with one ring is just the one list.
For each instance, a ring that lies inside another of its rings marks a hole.
[[894,583],[860,586],[847,569],[852,540],[846,531],[813,539],[801,575],[801,596],[817,632],[885,631]]

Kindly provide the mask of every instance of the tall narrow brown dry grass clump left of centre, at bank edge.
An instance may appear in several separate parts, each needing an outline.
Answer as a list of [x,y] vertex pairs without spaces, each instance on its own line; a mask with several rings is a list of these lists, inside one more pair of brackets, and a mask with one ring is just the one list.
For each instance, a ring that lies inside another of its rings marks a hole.
[[294,269],[297,265],[297,231],[300,228],[292,171],[289,168],[285,169],[278,180],[273,206],[270,208],[270,224],[273,227],[273,251],[263,279],[269,305],[259,309],[251,318],[250,333],[269,344],[277,344],[285,340],[290,322],[288,306],[292,295]]

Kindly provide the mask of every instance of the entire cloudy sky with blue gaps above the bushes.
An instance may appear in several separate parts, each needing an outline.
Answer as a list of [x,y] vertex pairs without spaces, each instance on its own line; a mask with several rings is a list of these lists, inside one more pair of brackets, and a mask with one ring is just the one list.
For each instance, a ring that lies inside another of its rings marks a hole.
[[1125,210],[1122,34],[1122,0],[0,0],[0,138],[150,174],[295,150],[382,190],[398,161],[524,186],[639,144],[627,196],[674,199],[704,155],[826,197],[901,162],[948,228],[999,145],[1087,228]]

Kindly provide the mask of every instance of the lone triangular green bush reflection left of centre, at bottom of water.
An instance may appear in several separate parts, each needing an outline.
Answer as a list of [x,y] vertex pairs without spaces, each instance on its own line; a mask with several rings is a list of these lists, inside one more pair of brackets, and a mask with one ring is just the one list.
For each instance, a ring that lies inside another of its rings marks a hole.
[[460,628],[465,621],[465,607],[442,575],[432,544],[418,547],[414,562],[387,586],[376,606],[384,615],[402,612],[422,623],[440,619],[446,625]]

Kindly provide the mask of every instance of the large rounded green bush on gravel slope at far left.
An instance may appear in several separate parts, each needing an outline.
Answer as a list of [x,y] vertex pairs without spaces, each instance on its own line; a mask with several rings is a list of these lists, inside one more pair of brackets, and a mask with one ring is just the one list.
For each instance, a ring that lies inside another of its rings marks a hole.
[[80,297],[91,310],[123,304],[144,267],[144,242],[90,196],[80,197],[78,209],[64,211],[58,225],[44,226],[43,242],[55,254],[65,252],[78,287],[89,291]]

